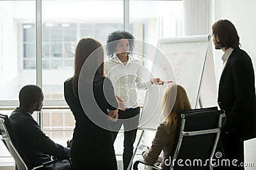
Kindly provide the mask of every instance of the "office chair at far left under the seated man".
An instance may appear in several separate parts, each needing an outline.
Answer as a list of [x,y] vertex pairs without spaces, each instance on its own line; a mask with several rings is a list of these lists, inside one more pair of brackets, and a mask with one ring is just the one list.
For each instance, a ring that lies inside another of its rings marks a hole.
[[[0,114],[0,138],[2,139],[4,145],[11,153],[13,159],[15,160],[15,169],[16,170],[33,170],[33,169],[40,169],[45,166],[49,166],[56,162],[60,162],[63,159],[54,159],[49,162],[45,162],[40,166],[31,167],[31,163],[22,152],[22,147],[19,144],[19,141],[13,135],[12,128],[9,122],[9,118],[7,115]],[[72,167],[70,159],[67,159]]]

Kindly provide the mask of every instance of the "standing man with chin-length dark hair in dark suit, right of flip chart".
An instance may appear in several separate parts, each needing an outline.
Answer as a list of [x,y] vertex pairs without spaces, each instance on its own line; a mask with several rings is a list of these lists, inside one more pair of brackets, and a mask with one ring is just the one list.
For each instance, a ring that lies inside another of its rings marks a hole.
[[225,52],[222,56],[223,71],[218,103],[226,114],[220,141],[225,159],[230,160],[230,166],[223,162],[221,168],[244,169],[243,141],[256,137],[255,80],[252,60],[239,48],[239,36],[236,27],[230,21],[215,22],[212,25],[212,36],[215,48]]

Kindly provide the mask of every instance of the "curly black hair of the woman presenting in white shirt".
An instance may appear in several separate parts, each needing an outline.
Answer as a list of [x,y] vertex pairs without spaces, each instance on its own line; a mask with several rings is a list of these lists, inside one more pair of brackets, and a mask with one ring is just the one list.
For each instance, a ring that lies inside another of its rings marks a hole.
[[[132,50],[134,48],[134,36],[132,36],[132,34],[127,31],[119,31],[118,30],[118,31],[111,32],[108,35],[107,45],[106,45],[106,51],[107,51],[108,56],[111,57],[116,52],[115,48],[117,45],[117,40],[119,40],[119,39],[128,39],[129,52],[132,52]],[[113,42],[113,43],[111,43],[111,42]]]

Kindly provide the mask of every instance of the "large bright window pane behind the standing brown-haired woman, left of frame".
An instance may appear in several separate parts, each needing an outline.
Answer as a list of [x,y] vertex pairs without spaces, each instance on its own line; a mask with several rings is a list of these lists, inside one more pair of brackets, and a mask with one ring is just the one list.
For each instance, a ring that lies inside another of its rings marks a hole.
[[42,1],[45,100],[64,99],[63,82],[74,74],[77,42],[92,37],[104,45],[109,32],[123,29],[123,13],[123,1]]

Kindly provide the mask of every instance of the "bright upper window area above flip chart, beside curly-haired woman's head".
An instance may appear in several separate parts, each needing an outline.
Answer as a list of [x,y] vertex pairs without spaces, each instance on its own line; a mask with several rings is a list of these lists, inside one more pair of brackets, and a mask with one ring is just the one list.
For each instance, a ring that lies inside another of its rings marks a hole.
[[130,1],[130,32],[154,46],[157,38],[182,36],[182,1]]

